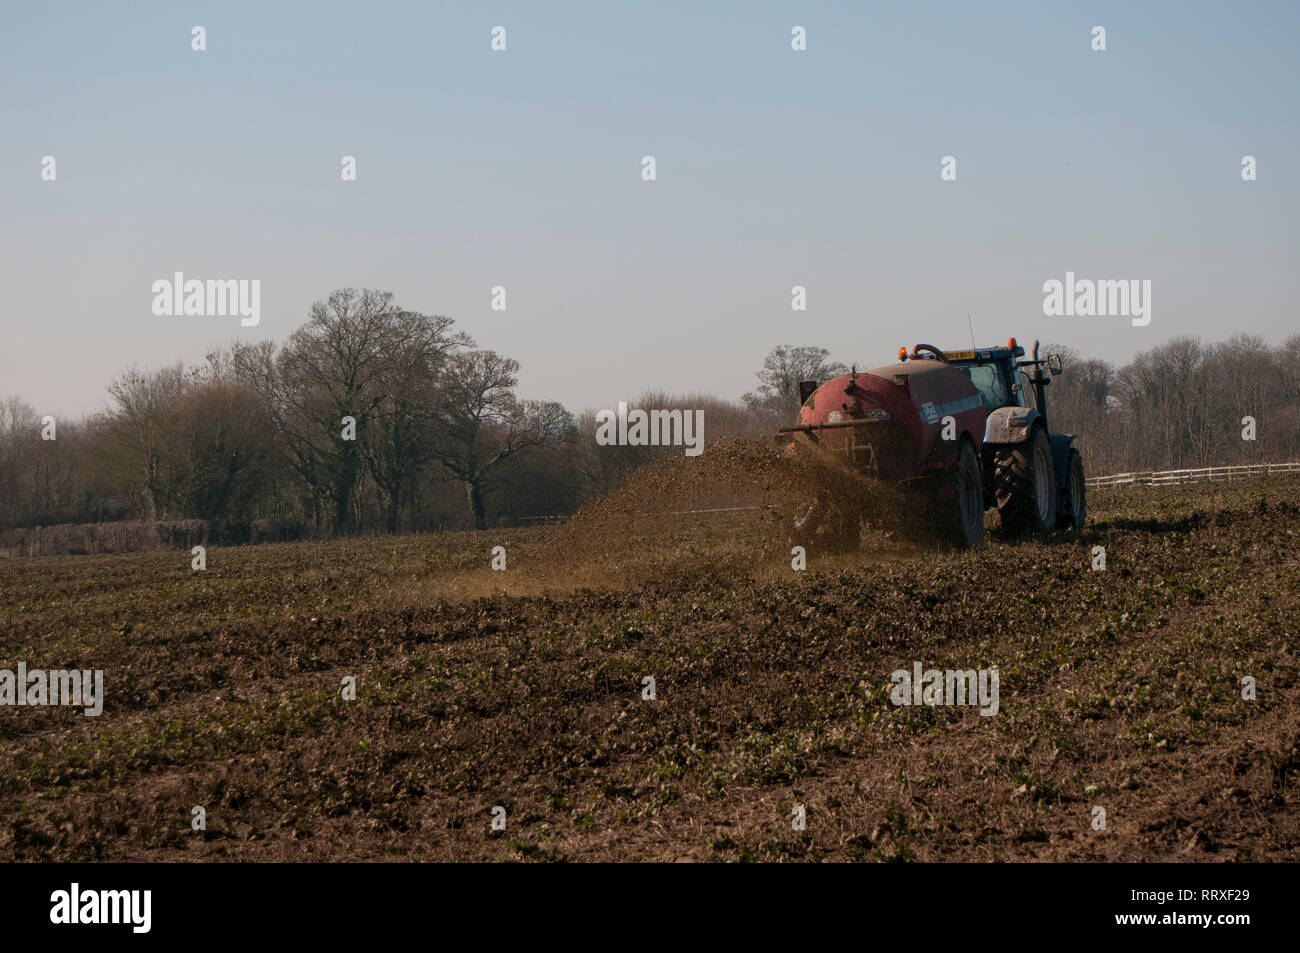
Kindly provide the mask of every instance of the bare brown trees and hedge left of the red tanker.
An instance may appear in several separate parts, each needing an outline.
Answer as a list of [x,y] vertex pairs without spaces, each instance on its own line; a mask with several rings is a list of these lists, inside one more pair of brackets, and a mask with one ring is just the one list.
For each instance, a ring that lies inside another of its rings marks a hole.
[[[342,289],[282,343],[120,373],[56,421],[0,403],[0,529],[142,520],[229,542],[486,528],[571,512],[659,447],[598,447],[594,412],[516,394],[516,360],[386,291]],[[771,421],[712,397],[712,436]],[[584,439],[585,437],[585,439]]]

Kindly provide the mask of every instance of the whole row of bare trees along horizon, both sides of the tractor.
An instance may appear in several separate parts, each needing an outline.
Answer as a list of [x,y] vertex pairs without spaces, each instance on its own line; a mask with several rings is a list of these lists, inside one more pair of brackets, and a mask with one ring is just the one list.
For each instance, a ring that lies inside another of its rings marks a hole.
[[[1300,460],[1300,334],[1277,347],[1182,337],[1122,367],[1044,350],[1065,360],[1048,389],[1052,426],[1079,434],[1091,473]],[[781,346],[738,402],[647,393],[630,403],[702,408],[706,447],[767,439],[797,416],[801,380],[846,369],[824,348]],[[337,290],[282,345],[120,373],[108,407],[57,421],[55,439],[32,407],[5,399],[0,529],[199,520],[230,542],[482,529],[571,512],[681,452],[597,446],[594,411],[523,399],[517,376],[517,361],[448,317],[386,291]]]

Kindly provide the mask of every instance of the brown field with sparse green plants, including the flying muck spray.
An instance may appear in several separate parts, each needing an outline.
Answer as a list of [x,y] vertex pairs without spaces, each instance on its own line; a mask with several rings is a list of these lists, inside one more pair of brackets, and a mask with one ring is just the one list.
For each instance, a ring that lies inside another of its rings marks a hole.
[[[0,707],[0,858],[1296,858],[1300,482],[796,572],[783,464],[728,452],[560,527],[0,563],[0,670],[105,693]],[[916,663],[997,714],[894,705]]]

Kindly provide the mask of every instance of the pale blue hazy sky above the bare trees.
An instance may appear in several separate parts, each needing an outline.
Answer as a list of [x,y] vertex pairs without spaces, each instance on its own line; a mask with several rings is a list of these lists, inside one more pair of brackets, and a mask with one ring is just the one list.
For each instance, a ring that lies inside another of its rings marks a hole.
[[[282,341],[344,286],[454,317],[573,411],[737,398],[781,343],[962,346],[967,312],[1117,363],[1278,342],[1297,35],[1280,1],[5,3],[0,397],[98,410],[129,364]],[[155,316],[177,270],[260,280],[261,324]],[[1150,280],[1150,324],[1045,317],[1066,270]]]

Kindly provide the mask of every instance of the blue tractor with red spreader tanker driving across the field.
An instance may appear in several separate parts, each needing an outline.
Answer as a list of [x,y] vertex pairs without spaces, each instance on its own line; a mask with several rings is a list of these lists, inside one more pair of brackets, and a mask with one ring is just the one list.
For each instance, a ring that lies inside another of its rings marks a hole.
[[[1079,529],[1087,516],[1074,434],[1052,433],[1046,386],[1060,355],[1024,348],[898,348],[898,363],[800,382],[800,423],[777,439],[811,445],[876,481],[924,494],[959,546],[984,540],[996,507],[1011,534]],[[861,508],[826,489],[793,516],[796,540],[855,542]],[[820,534],[820,536],[819,536]]]

